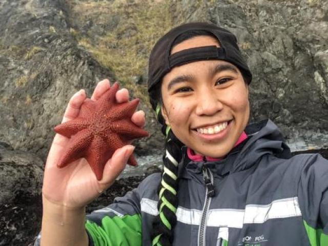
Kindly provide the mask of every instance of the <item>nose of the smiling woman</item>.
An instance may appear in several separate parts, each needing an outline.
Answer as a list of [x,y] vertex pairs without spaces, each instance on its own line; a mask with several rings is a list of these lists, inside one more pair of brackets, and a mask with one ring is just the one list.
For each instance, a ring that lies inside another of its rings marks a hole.
[[223,105],[215,91],[212,91],[211,89],[202,91],[197,96],[197,115],[213,115],[222,110]]

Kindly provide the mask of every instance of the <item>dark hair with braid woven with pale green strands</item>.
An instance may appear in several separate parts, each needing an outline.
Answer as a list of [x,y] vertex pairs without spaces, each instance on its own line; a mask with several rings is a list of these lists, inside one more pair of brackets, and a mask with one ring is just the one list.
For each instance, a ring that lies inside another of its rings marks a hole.
[[[181,34],[173,43],[177,45],[184,40],[194,36],[213,34],[207,31],[190,31]],[[153,246],[170,246],[173,243],[173,230],[177,221],[176,210],[178,207],[178,163],[181,161],[182,142],[174,135],[170,126],[165,124],[165,119],[161,114],[162,98],[161,85],[156,85],[153,91],[149,92],[149,97],[156,112],[157,120],[162,125],[161,131],[166,136],[165,153],[163,154],[162,179],[158,186],[159,201],[157,208],[158,216],[153,221],[152,245]]]

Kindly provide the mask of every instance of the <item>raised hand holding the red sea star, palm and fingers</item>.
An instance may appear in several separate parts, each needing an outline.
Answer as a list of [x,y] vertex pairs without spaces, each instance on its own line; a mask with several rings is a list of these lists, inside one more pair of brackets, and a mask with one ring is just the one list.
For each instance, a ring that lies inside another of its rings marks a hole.
[[[102,80],[96,86],[91,99],[98,100],[110,89],[108,79]],[[76,118],[80,107],[86,99],[84,90],[76,92],[69,100],[64,114],[63,122]],[[120,89],[116,93],[117,103],[129,100],[127,89]],[[137,111],[131,120],[139,127],[145,125],[144,111]],[[99,193],[109,188],[116,177],[124,170],[134,147],[131,145],[117,149],[113,156],[106,162],[103,179],[97,180],[86,159],[81,158],[71,162],[64,168],[57,168],[60,155],[63,154],[69,138],[56,134],[46,162],[43,183],[43,199],[56,206],[67,208],[82,208],[95,199]]]

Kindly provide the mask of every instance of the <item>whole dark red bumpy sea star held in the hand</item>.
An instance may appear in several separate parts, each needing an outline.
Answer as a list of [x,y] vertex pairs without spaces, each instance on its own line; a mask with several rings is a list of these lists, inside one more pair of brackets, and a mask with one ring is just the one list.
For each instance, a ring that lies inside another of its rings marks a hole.
[[[97,101],[86,99],[77,118],[54,128],[55,132],[70,138],[58,161],[58,168],[84,157],[100,180],[106,161],[116,149],[130,144],[132,139],[148,136],[148,132],[131,121],[139,99],[118,104],[115,99],[117,90],[118,84],[115,83]],[[133,155],[128,163],[137,165]]]

